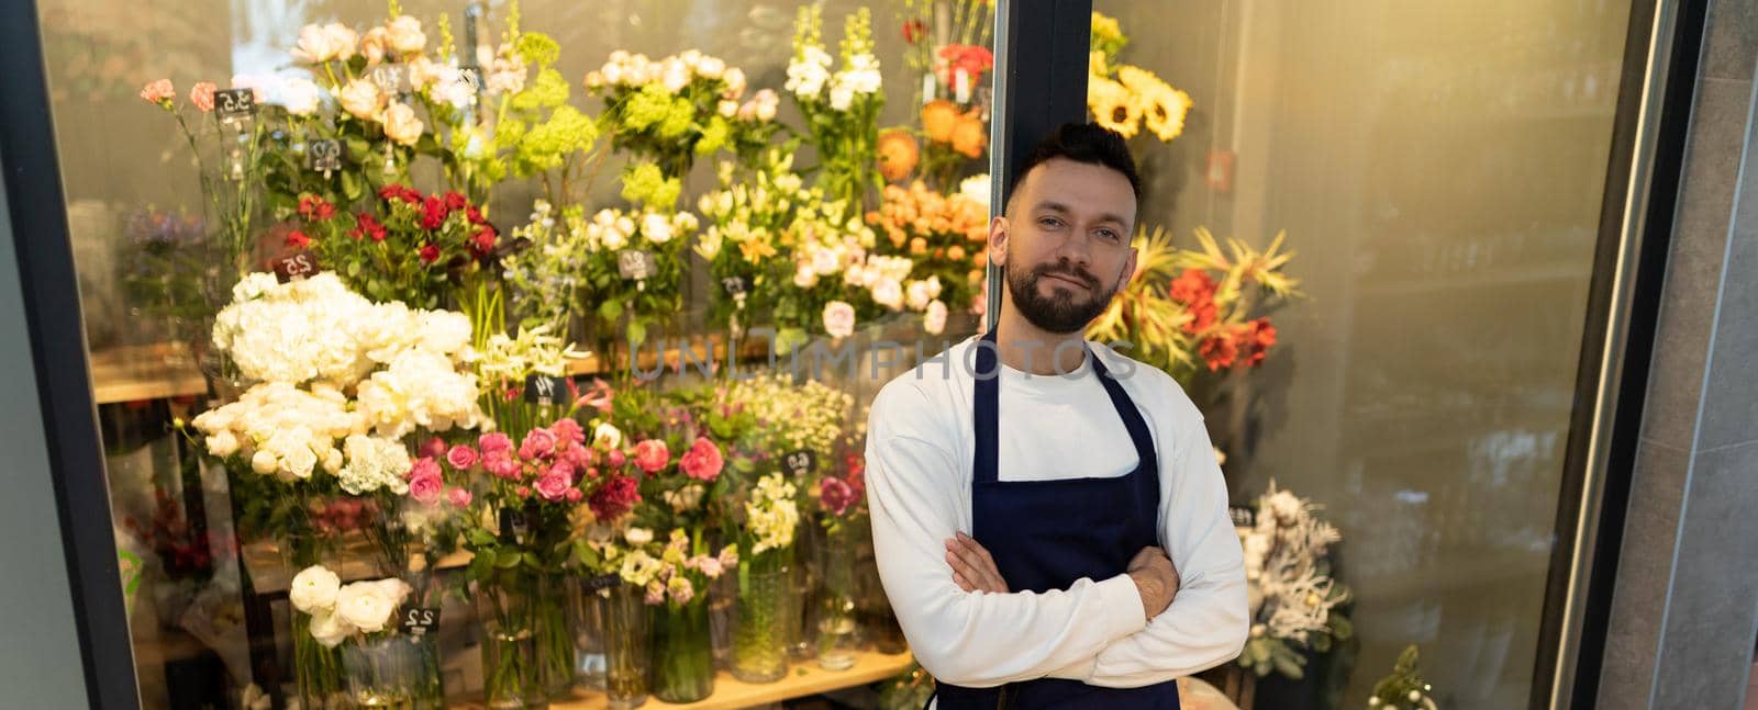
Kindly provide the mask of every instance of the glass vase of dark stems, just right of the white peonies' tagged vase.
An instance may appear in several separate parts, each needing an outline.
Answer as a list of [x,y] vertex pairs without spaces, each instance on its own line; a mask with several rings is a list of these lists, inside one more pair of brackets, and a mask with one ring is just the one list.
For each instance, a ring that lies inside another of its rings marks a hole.
[[482,692],[492,710],[548,708],[538,652],[538,578],[503,571],[476,590]]

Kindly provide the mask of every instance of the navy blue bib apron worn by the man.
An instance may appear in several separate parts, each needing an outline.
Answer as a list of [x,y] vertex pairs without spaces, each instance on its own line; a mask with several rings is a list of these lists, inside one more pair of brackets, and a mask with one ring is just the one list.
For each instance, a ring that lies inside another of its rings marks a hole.
[[[1136,402],[1086,351],[1093,374],[1136,445],[1136,469],[1116,478],[1002,482],[997,476],[1000,371],[995,330],[977,348],[976,466],[970,476],[970,536],[995,557],[1014,592],[1069,589],[1079,578],[1109,580],[1144,547],[1155,547],[1160,515],[1160,464],[1153,436]],[[941,710],[1118,708],[1178,710],[1178,682],[1111,689],[1079,680],[1037,678],[1002,687],[937,684]],[[932,699],[928,701],[933,703]]]

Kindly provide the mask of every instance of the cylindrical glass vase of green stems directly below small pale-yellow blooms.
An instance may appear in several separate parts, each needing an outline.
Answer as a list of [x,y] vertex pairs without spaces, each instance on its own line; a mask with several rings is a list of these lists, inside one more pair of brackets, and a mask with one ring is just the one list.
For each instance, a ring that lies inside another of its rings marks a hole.
[[733,619],[733,677],[772,684],[788,675],[782,617],[793,596],[793,548],[765,550],[738,564],[738,606]]

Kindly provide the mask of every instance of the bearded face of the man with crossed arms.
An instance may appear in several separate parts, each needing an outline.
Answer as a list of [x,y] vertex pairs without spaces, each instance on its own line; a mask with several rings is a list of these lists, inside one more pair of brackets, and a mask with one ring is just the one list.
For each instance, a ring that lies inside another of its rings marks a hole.
[[990,255],[1007,267],[1007,292],[1025,320],[1071,334],[1104,313],[1136,271],[1134,228],[1129,178],[1055,158],[1020,181],[1007,216],[990,228]]

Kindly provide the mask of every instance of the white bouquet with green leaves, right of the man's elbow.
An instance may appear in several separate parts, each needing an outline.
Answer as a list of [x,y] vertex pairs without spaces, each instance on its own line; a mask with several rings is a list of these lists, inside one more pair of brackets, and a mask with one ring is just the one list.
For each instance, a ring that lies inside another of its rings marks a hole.
[[1238,527],[1245,547],[1245,578],[1252,605],[1252,633],[1239,666],[1259,677],[1282,673],[1301,678],[1306,650],[1329,652],[1354,626],[1341,612],[1348,585],[1331,576],[1326,552],[1343,540],[1318,520],[1318,506],[1289,490],[1257,499],[1250,527]]

